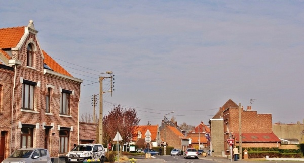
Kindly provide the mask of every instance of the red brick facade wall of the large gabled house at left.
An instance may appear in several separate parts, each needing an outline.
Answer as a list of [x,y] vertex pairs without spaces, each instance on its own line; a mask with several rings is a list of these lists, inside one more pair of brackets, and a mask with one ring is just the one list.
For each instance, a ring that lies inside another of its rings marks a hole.
[[[40,46],[36,40],[35,33],[30,32],[28,37],[23,41],[24,44],[17,50],[12,51],[12,59],[18,59],[21,61],[21,65],[17,67],[16,70],[16,88],[14,91],[14,109],[13,109],[13,121],[12,121],[12,132],[9,129],[10,125],[10,113],[11,113],[11,98],[12,97],[12,81],[14,76],[12,72],[6,73],[1,69],[1,80],[0,85],[2,85],[2,96],[4,99],[1,104],[2,113],[0,113],[1,118],[1,131],[8,132],[5,144],[5,157],[10,153],[20,148],[21,144],[21,128],[19,128],[19,123],[21,124],[31,124],[36,125],[33,133],[33,147],[44,148],[44,137],[45,129],[43,128],[43,123],[46,126],[51,126],[54,124],[54,128],[49,131],[49,151],[51,157],[59,157],[65,154],[59,154],[59,127],[71,128],[69,136],[69,149],[73,148],[73,144],[78,144],[78,103],[80,96],[80,83],[73,82],[73,80],[66,80],[66,78],[58,76],[48,76],[44,74],[43,70],[43,55],[41,53]],[[34,45],[33,52],[33,67],[27,67],[27,45],[32,43]],[[37,84],[34,91],[34,111],[22,110],[22,83],[21,79],[33,81]],[[46,94],[47,85],[52,86],[51,89],[51,101],[50,101],[50,113],[46,114]],[[74,94],[70,95],[70,114],[68,116],[62,116],[60,112],[60,88],[73,91]],[[8,94],[3,94],[3,93]],[[6,125],[6,126],[5,126]],[[12,137],[9,137],[12,134]],[[11,147],[11,150],[9,148]]]

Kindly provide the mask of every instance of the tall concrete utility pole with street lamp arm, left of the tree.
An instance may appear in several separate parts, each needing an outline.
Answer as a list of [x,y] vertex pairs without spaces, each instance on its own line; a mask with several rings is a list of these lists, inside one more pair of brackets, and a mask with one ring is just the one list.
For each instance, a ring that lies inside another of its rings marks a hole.
[[[110,74],[110,76],[109,77],[103,77],[103,76],[101,76],[101,74]],[[103,81],[103,79],[107,79],[107,78],[111,78],[111,90],[109,90],[111,93],[112,93],[112,88],[113,88],[113,85],[112,85],[112,80],[114,80],[113,79],[113,76],[114,75],[112,75],[113,74],[113,72],[112,71],[106,71],[105,73],[100,73],[100,75],[99,75],[99,144],[102,144],[102,118],[103,118],[103,102],[102,102],[102,100],[103,100],[103,98],[102,98],[102,95],[103,95],[103,93],[105,93],[105,92],[103,92],[102,91],[102,81]]]

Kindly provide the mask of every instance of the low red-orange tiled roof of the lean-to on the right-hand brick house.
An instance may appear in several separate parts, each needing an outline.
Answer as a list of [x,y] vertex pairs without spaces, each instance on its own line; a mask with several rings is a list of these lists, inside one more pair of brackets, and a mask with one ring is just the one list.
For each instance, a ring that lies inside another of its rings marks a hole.
[[[239,142],[239,133],[235,133]],[[274,133],[242,133],[242,142],[281,142]]]

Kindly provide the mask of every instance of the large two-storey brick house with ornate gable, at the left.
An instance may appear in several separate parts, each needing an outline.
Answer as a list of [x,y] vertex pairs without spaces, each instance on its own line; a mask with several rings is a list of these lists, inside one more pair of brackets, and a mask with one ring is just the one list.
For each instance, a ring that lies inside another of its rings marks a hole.
[[79,142],[82,80],[41,49],[37,33],[32,20],[0,29],[0,159],[42,147],[54,161]]

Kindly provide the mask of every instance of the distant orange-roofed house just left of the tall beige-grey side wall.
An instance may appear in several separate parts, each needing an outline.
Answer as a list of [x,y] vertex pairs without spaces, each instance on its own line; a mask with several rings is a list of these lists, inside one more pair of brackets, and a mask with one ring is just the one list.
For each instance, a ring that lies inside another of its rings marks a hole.
[[[193,130],[187,133],[187,138],[190,139],[189,147],[209,150],[210,141],[205,137],[206,134],[210,134],[210,128],[201,122],[198,126],[194,127]],[[200,148],[200,145],[203,145],[203,148]]]

